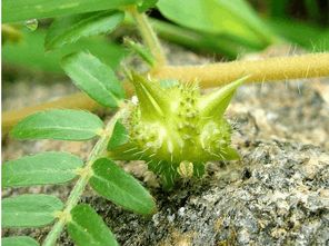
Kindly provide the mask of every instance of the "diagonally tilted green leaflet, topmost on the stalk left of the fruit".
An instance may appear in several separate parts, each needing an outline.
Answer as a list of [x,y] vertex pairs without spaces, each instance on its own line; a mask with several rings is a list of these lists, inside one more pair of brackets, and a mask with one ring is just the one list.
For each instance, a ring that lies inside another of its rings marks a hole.
[[91,53],[78,52],[62,60],[62,68],[74,85],[106,107],[117,107],[124,90],[112,69]]

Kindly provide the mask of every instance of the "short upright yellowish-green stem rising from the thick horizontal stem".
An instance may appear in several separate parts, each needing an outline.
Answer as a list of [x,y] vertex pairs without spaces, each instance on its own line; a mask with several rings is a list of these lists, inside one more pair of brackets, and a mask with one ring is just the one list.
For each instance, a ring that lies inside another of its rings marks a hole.
[[144,13],[139,13],[136,7],[129,8],[129,12],[137,23],[144,45],[150,49],[151,53],[156,58],[156,66],[164,65],[167,62],[164,52],[156,32],[148,21],[147,16]]

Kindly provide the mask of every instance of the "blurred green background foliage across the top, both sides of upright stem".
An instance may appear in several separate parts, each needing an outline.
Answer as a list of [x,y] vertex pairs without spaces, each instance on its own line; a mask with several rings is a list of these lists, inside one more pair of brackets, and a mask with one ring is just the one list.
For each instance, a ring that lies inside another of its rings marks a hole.
[[[329,50],[328,0],[149,0],[144,9],[164,42],[218,59],[231,60],[280,45],[308,52]],[[107,37],[84,38],[46,52],[44,36],[52,20],[2,23],[2,69],[61,75],[61,57],[81,49],[116,68],[128,53],[123,37],[137,35],[132,19],[127,16]]]

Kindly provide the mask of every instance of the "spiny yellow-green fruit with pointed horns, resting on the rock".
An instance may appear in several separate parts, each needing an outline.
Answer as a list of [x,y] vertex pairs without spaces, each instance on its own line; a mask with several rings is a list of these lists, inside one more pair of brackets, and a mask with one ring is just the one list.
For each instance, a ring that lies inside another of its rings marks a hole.
[[117,122],[109,155],[121,160],[144,160],[164,188],[179,176],[201,177],[210,160],[238,159],[230,147],[231,127],[223,114],[245,78],[201,96],[197,83],[161,86],[131,75],[138,102],[130,102]]

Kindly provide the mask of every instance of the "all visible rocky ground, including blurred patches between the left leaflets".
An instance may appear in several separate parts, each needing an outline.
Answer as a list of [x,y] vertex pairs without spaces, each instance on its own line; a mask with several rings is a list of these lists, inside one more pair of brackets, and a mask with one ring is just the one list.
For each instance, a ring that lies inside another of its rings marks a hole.
[[[210,61],[176,47],[170,53],[172,63]],[[47,75],[23,72],[10,80],[4,77],[4,110],[76,91],[64,77],[49,81]],[[99,114],[108,120],[108,114]],[[81,201],[96,208],[120,245],[329,245],[329,79],[242,86],[227,117],[241,159],[208,164],[200,180],[181,180],[164,193],[142,163],[120,164],[149,187],[157,200],[154,215],[133,215],[89,188]],[[2,159],[8,160],[44,150],[86,158],[93,141],[6,138],[2,144]],[[64,200],[71,187],[6,189],[2,196],[47,193]],[[6,229],[2,235],[42,240],[48,230]],[[63,233],[58,244],[72,242]]]

